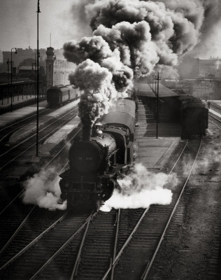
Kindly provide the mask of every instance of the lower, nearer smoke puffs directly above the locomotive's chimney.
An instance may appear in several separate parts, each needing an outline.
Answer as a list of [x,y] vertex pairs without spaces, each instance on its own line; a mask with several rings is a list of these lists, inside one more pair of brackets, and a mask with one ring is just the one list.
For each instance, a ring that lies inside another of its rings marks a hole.
[[110,50],[101,36],[65,43],[64,56],[78,64],[69,78],[71,84],[84,91],[78,104],[83,125],[92,125],[99,116],[108,113],[114,100],[127,97],[133,71],[120,61],[119,50]]

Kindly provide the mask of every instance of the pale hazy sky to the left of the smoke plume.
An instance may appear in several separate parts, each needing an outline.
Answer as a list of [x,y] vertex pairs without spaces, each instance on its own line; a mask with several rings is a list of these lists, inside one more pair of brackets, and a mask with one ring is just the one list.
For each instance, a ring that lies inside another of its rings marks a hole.
[[[73,20],[71,6],[76,0],[40,0],[39,48],[62,48],[73,38],[88,35],[90,29],[79,34]],[[37,0],[0,0],[0,50],[36,48]]]

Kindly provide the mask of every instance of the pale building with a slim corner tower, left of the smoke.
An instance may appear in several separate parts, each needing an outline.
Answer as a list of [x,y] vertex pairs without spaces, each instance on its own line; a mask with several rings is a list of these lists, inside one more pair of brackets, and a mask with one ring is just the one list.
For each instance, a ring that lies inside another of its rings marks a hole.
[[74,64],[64,59],[57,59],[54,48],[46,51],[46,83],[47,89],[55,85],[69,85],[69,73],[74,69]]

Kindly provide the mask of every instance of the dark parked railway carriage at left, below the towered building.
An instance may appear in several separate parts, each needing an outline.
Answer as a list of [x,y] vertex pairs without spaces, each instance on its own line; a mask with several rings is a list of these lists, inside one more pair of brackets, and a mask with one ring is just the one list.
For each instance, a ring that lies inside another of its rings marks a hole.
[[72,85],[57,85],[47,90],[47,102],[50,108],[60,107],[78,97],[80,97],[80,90],[73,88]]

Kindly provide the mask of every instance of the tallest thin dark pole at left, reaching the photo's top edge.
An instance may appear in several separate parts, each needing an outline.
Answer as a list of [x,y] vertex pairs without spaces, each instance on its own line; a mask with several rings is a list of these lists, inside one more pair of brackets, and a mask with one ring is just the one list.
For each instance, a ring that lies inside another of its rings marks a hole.
[[38,18],[39,18],[39,13],[40,11],[40,6],[39,6],[39,1],[38,0],[38,10],[37,10],[37,120],[36,120],[36,156],[38,157],[38,121],[39,121],[39,40],[38,40]]

